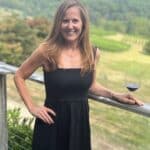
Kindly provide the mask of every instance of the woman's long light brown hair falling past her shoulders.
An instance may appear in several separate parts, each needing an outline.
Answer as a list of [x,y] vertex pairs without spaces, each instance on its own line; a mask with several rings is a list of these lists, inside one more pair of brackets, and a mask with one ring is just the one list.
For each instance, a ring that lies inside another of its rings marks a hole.
[[[77,0],[66,0],[58,8],[51,32],[46,38],[46,43],[49,45],[48,57],[53,62],[54,66],[57,66],[57,56],[64,45],[64,39],[60,33],[61,23],[65,16],[66,11],[71,7],[77,7],[80,11],[82,20],[82,32],[78,39],[79,48],[82,57],[81,72],[92,71],[94,69],[94,56],[93,49],[89,39],[89,17],[87,10]],[[55,68],[55,67],[54,67]]]

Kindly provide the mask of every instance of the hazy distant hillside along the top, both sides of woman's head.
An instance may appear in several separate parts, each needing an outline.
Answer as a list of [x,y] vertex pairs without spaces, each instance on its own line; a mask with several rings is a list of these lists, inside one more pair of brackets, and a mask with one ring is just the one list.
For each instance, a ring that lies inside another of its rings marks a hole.
[[[0,0],[0,7],[17,9],[29,16],[52,17],[63,0]],[[81,0],[89,9],[91,20],[124,20],[132,16],[150,18],[149,0]]]

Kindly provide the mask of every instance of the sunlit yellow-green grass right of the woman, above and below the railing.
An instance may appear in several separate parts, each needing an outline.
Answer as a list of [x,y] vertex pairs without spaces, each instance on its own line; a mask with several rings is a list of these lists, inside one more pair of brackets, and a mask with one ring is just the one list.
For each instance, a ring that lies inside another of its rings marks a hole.
[[[142,53],[145,40],[124,35],[106,36],[131,44],[123,52],[101,51],[97,66],[97,80],[114,91],[126,92],[125,78],[141,82],[133,93],[150,102],[150,56]],[[90,101],[93,150],[150,150],[150,119],[105,104]],[[101,141],[104,141],[105,148]],[[102,145],[102,146],[101,146]]]

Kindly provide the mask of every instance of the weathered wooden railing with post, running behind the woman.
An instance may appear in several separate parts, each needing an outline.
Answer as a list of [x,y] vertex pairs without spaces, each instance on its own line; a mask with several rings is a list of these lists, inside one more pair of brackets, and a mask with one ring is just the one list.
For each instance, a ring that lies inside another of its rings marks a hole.
[[[7,131],[7,90],[6,80],[7,74],[14,74],[17,67],[0,62],[0,150],[8,150],[8,131]],[[43,76],[39,74],[32,74],[29,78],[35,82],[43,84]],[[135,112],[146,117],[150,117],[150,104],[145,103],[143,106],[128,105],[119,103],[113,99],[102,96],[96,96],[89,93],[89,98],[92,100],[112,105],[121,109]]]

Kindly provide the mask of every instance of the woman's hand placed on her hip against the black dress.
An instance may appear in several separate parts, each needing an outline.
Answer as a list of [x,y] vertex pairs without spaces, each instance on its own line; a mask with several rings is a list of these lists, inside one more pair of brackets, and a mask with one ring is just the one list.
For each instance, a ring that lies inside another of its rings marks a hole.
[[43,120],[45,123],[48,123],[48,124],[54,123],[54,120],[52,119],[51,115],[56,116],[56,113],[48,107],[34,105],[31,107],[29,111],[33,116]]

